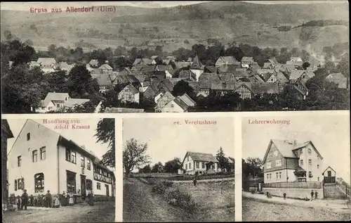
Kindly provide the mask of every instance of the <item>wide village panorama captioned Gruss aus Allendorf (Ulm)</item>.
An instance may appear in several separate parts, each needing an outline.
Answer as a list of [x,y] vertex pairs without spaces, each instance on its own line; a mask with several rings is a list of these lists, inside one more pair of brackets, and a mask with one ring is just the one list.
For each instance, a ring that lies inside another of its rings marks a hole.
[[1,3],[2,113],[350,109],[347,1]]

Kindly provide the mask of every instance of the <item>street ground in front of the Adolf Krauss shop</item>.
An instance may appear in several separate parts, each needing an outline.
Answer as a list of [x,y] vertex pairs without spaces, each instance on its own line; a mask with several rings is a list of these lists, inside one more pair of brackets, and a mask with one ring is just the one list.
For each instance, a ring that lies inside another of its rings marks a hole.
[[20,212],[4,212],[3,222],[115,222],[115,203],[95,202],[93,206],[84,203],[62,208],[28,207]]

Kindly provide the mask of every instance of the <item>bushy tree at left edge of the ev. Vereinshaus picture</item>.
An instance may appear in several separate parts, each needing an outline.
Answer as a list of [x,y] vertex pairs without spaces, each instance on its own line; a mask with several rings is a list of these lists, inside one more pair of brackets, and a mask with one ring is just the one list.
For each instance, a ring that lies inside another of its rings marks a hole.
[[139,144],[137,140],[130,139],[126,141],[123,151],[123,167],[126,177],[136,167],[150,163],[150,156],[146,154],[147,144]]

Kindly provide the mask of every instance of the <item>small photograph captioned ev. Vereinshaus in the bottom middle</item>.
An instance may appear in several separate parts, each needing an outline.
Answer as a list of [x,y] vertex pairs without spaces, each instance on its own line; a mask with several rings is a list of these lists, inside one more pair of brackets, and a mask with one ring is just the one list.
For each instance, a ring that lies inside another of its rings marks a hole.
[[234,222],[233,123],[124,118],[123,222]]

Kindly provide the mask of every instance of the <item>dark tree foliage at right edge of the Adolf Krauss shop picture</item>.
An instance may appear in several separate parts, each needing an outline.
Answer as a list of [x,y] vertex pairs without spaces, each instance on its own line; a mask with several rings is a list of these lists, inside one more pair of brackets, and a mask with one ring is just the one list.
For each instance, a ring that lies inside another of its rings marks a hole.
[[114,118],[104,118],[98,122],[96,134],[94,135],[102,144],[108,144],[109,150],[102,155],[102,165],[115,167],[116,166],[116,143],[115,143],[115,128]]

